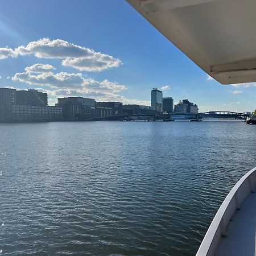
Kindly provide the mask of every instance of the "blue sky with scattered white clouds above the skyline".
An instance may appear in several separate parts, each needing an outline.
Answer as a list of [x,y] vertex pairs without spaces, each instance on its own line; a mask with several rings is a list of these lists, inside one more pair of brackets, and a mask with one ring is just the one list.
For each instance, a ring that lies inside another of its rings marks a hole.
[[2,0],[0,87],[150,105],[151,89],[200,112],[251,112],[256,83],[221,85],[125,0]]

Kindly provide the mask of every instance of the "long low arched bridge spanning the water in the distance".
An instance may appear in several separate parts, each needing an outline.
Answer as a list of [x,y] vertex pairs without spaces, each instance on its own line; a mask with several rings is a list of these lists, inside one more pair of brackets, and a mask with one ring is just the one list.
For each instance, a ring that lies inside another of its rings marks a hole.
[[189,120],[201,120],[203,118],[223,118],[223,119],[246,119],[249,114],[239,112],[227,112],[227,111],[210,111],[202,113],[170,113],[170,114],[122,114],[122,115],[110,115],[109,117],[93,117],[84,119],[84,121],[100,121],[100,120],[123,120],[123,119],[144,119],[144,120],[168,120],[168,119],[189,119]]

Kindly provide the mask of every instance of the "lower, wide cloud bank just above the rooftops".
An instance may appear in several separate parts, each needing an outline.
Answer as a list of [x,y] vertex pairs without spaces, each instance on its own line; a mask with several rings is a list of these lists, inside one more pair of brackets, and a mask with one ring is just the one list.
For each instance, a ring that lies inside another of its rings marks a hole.
[[52,65],[35,64],[26,67],[22,73],[16,73],[11,79],[29,85],[38,86],[38,90],[49,94],[50,102],[56,102],[57,97],[93,97],[98,101],[121,101],[125,104],[143,104],[148,101],[127,99],[119,94],[126,90],[125,85],[109,80],[96,81],[86,79],[81,73],[55,73]]

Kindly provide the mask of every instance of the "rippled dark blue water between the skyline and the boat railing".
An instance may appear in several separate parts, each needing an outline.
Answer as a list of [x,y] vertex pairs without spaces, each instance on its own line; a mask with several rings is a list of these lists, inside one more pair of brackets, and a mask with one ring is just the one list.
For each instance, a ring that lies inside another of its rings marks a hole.
[[0,124],[1,255],[195,255],[256,166],[244,122]]

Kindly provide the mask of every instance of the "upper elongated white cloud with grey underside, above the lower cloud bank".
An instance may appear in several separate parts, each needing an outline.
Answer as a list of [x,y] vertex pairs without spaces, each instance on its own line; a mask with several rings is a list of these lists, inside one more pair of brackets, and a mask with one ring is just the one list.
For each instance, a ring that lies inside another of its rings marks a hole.
[[44,59],[62,59],[62,65],[73,67],[79,71],[104,71],[121,64],[121,60],[115,59],[113,56],[95,52],[93,49],[77,46],[61,39],[39,39],[28,43],[27,46],[19,46],[15,49],[15,53],[34,55]]

